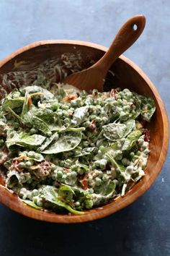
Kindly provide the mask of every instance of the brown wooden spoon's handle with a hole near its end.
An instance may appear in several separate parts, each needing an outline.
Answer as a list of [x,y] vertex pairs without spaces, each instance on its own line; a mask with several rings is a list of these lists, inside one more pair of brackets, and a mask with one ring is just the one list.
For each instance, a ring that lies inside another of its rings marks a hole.
[[106,54],[94,66],[97,67],[99,65],[98,67],[102,68],[102,72],[107,73],[113,62],[135,43],[135,40],[143,32],[145,25],[146,18],[142,14],[135,15],[125,22],[115,36],[111,46],[109,46]]

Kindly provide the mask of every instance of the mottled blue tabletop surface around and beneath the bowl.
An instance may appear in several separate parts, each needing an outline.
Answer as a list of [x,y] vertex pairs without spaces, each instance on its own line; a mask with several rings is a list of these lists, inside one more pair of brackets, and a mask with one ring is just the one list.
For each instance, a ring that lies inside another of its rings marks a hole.
[[[170,114],[169,9],[168,0],[1,0],[0,59],[36,40],[109,46],[122,23],[142,13],[146,29],[125,56],[148,74]],[[0,255],[169,256],[169,163],[170,154],[151,189],[133,205],[91,223],[42,223],[0,205]]]

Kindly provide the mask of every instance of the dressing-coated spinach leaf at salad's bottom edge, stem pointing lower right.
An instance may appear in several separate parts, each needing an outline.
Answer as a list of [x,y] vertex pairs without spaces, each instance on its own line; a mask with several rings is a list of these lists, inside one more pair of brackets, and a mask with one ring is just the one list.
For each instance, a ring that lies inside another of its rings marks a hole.
[[40,197],[43,200],[51,202],[51,203],[53,203],[54,205],[56,205],[58,207],[65,208],[66,210],[68,210],[71,213],[79,214],[79,215],[83,215],[84,214],[84,212],[80,212],[78,210],[74,210],[66,202],[63,202],[60,199],[58,199],[58,194],[55,192],[54,187],[43,186],[42,189],[41,189],[41,192],[40,192]]

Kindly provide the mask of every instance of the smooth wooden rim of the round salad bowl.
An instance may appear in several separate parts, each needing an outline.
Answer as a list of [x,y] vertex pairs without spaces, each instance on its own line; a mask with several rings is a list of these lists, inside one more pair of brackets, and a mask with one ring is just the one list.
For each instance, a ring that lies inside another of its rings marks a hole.
[[[5,59],[3,59],[0,62],[0,68],[4,64],[6,64],[8,61],[12,61],[14,57],[18,56],[19,54],[22,54],[24,51],[28,51],[31,48],[36,48],[37,46],[45,46],[50,44],[87,46],[87,47],[101,50],[104,52],[107,51],[107,48],[104,46],[100,46],[95,43],[79,41],[79,40],[42,40],[35,43],[31,43],[27,46],[19,48],[17,51],[14,51],[12,54],[7,56]],[[37,220],[48,221],[53,223],[81,223],[81,222],[93,221],[99,218],[103,218],[105,216],[109,216],[110,214],[115,213],[122,208],[125,208],[126,206],[130,205],[132,202],[137,200],[138,197],[143,195],[143,193],[146,192],[146,190],[149,187],[151,187],[151,184],[153,184],[153,182],[155,181],[166,159],[166,153],[167,153],[168,144],[169,144],[169,121],[166,115],[166,109],[164,107],[164,103],[161,100],[161,96],[158,94],[158,91],[156,90],[153,83],[148,79],[146,74],[136,64],[134,64],[133,61],[130,61],[130,59],[126,58],[125,56],[121,55],[120,59],[124,61],[126,64],[128,64],[130,67],[135,69],[135,72],[137,72],[140,75],[140,77],[142,77],[143,80],[145,80],[145,82],[148,84],[148,87],[151,89],[153,95],[155,96],[159,108],[161,109],[161,118],[163,119],[163,124],[164,124],[162,127],[163,134],[164,134],[162,145],[164,145],[164,147],[161,148],[161,153],[157,160],[153,174],[151,176],[151,179],[148,180],[147,184],[143,182],[143,184],[140,187],[138,187],[137,191],[133,193],[129,191],[126,193],[125,197],[122,197],[117,201],[109,202],[107,205],[104,205],[100,208],[86,210],[85,214],[82,216],[71,215],[71,214],[58,215],[55,213],[49,213],[48,211],[36,210],[34,208],[31,208],[28,205],[25,205],[22,202],[22,200],[19,200],[19,197],[17,197],[17,195],[12,194],[11,192],[9,192],[8,189],[3,187],[2,185],[0,185],[0,202],[4,203],[4,205],[8,206],[9,208],[16,211],[17,213],[21,213],[24,216],[35,218]]]

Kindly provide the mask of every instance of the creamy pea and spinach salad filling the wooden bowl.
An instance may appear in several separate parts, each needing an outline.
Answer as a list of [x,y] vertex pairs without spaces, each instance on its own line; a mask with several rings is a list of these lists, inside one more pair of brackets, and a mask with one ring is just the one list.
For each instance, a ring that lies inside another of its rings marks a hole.
[[39,210],[84,214],[145,175],[152,98],[71,85],[14,89],[0,106],[6,188]]

